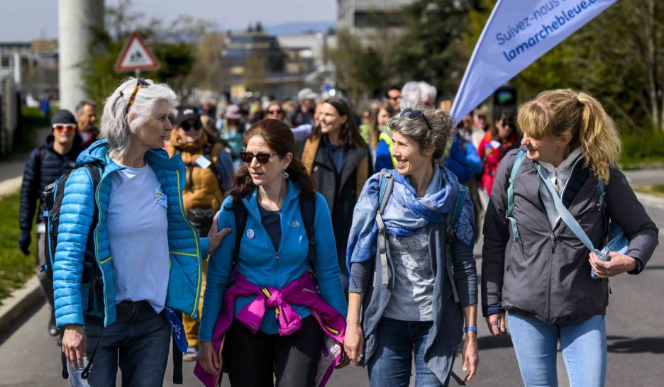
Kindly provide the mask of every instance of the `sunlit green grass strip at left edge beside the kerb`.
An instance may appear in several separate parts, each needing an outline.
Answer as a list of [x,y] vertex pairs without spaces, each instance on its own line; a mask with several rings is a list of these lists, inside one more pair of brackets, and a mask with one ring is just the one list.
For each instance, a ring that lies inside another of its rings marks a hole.
[[20,288],[35,274],[35,252],[37,248],[33,228],[31,255],[18,249],[18,207],[20,193],[0,198],[0,303],[11,291]]

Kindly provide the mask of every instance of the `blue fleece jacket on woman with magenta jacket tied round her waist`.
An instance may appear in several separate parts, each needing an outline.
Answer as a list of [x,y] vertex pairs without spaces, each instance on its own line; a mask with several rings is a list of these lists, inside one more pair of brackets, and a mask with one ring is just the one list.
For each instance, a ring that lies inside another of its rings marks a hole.
[[[254,189],[242,199],[248,210],[248,217],[244,235],[240,241],[240,251],[238,252],[240,257],[236,269],[256,286],[272,286],[279,289],[299,279],[305,271],[310,269],[306,260],[309,243],[299,208],[299,194],[299,186],[289,181],[288,194],[281,209],[282,237],[276,252],[272,240],[260,220],[258,190]],[[203,315],[199,330],[199,340],[201,341],[211,340],[212,330],[222,306],[223,290],[226,288],[233,267],[232,252],[237,230],[235,216],[231,209],[232,201],[232,196],[226,198],[221,206],[221,213],[219,213],[219,230],[231,228],[231,233],[223,238],[221,245],[211,255],[208,263]],[[332,220],[325,198],[321,194],[316,194],[314,239],[316,240],[314,273],[321,297],[345,318],[347,307],[341,288]],[[235,315],[253,299],[255,296],[238,298]],[[311,314],[306,306],[292,306],[301,318],[306,318]],[[260,330],[272,335],[278,332],[278,328],[275,314],[266,313]]]

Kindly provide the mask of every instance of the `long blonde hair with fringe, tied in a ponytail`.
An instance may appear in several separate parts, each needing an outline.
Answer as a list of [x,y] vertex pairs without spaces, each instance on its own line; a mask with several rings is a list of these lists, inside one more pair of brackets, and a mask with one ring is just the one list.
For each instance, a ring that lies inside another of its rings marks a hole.
[[584,167],[609,183],[609,168],[616,165],[621,140],[616,125],[592,96],[570,89],[543,91],[519,109],[519,127],[532,138],[570,134],[568,152],[581,147]]

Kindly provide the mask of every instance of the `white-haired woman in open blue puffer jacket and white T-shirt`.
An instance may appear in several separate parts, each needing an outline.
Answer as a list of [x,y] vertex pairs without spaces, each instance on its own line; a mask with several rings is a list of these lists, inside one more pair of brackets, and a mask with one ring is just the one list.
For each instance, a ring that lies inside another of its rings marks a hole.
[[230,231],[214,222],[199,238],[184,215],[184,164],[161,149],[175,99],[165,84],[123,82],[105,102],[104,140],[65,182],[53,288],[72,386],[115,386],[118,366],[123,386],[162,386],[170,317],[196,317],[201,259]]

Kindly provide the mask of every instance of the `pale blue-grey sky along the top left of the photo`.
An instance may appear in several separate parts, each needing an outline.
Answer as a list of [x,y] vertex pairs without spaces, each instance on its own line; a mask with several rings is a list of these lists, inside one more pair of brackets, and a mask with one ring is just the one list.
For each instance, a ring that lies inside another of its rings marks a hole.
[[[133,9],[170,21],[179,15],[205,18],[219,30],[294,21],[334,21],[337,0],[134,0]],[[0,41],[57,38],[57,0],[0,0]],[[106,6],[118,0],[106,0]]]

